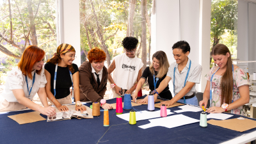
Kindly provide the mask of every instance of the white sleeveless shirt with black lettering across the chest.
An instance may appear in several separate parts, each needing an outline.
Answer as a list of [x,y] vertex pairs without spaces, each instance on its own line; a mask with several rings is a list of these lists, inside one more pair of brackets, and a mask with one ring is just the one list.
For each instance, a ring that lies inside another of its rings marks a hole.
[[115,84],[124,90],[130,90],[137,81],[143,63],[139,58],[129,58],[126,54],[115,56],[115,71],[113,80]]

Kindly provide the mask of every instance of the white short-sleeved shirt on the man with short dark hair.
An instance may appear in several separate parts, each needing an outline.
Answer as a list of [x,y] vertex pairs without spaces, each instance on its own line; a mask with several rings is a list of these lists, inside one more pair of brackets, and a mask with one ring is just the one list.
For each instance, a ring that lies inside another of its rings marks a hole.
[[[184,82],[185,82],[185,79],[186,79],[186,76],[188,73],[189,62],[190,62],[190,60],[188,59],[188,63],[186,65],[186,67],[183,68],[181,73],[179,72],[178,64],[176,62],[172,63],[172,65],[170,65],[170,67],[168,69],[166,76],[171,77],[172,83],[173,83],[173,70],[174,70],[174,67],[176,67],[175,86],[174,86],[175,95],[177,93],[179,93],[180,90],[182,90],[182,88],[184,88]],[[189,70],[187,82],[190,81],[192,83],[200,83],[201,73],[202,73],[202,66],[199,65],[198,63],[194,63],[193,61],[191,61],[191,67]],[[191,88],[191,90],[188,93],[186,93],[186,96],[193,95],[193,93],[196,92],[195,86],[196,86],[196,84],[194,84],[194,86]]]

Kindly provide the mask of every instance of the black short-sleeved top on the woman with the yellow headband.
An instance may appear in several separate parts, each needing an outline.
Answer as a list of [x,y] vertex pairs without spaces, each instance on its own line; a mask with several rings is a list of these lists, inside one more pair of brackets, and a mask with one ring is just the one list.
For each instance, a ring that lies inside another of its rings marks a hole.
[[[45,63],[45,70],[47,70],[51,74],[51,92],[52,95],[54,95],[54,73],[55,73],[55,66],[52,63]],[[78,67],[76,64],[72,63],[72,66],[74,68],[74,73],[78,72]],[[59,67],[57,70],[57,76],[56,76],[56,99],[62,99],[64,97],[67,97],[70,94],[70,87],[72,86],[71,77],[69,74],[68,67]]]

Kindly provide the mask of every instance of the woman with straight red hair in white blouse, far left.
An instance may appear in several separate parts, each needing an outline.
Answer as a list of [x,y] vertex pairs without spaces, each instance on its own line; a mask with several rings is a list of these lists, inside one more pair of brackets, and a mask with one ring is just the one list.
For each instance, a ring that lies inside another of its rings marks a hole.
[[[48,105],[45,93],[47,83],[42,69],[45,52],[31,45],[22,54],[18,67],[13,68],[7,76],[5,90],[0,96],[0,111],[16,111],[19,109],[33,109],[43,115],[53,116],[54,108]],[[32,102],[38,96],[44,107]]]

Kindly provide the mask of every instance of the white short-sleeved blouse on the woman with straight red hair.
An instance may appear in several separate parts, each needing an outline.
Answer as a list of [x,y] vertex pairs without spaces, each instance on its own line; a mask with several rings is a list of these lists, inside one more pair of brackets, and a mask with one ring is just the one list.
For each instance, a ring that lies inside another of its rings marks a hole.
[[[32,72],[32,77],[34,76],[34,74],[35,74],[35,70]],[[33,78],[29,79],[29,77],[28,77],[29,90],[32,86],[32,83],[33,83]],[[25,97],[33,100],[33,98],[35,97],[39,88],[44,88],[46,83],[47,83],[47,80],[45,78],[44,68],[42,68],[41,74],[35,75],[35,83],[33,85],[31,93],[28,97],[29,92],[28,92],[28,88],[27,88],[26,78],[22,74],[21,70],[18,67],[15,67],[10,72],[8,72],[5,89],[4,89],[3,93],[1,94],[1,98],[6,99],[8,102],[18,102],[18,100],[13,95],[12,90],[23,89],[24,93],[25,93]]]

